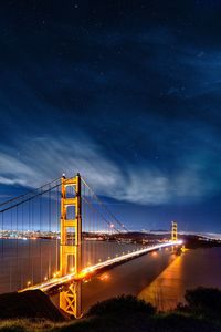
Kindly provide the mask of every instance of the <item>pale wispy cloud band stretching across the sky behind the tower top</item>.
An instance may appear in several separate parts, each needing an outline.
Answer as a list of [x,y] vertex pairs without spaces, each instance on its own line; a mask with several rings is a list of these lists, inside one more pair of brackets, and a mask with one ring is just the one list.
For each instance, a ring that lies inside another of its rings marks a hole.
[[[18,153],[19,152],[19,153]],[[202,159],[202,158],[201,158]],[[198,160],[199,162],[199,160]],[[164,205],[176,199],[202,199],[214,187],[203,179],[203,167],[187,160],[176,174],[164,173],[148,164],[125,168],[107,157],[101,146],[81,138],[35,137],[17,144],[10,154],[0,153],[0,183],[38,187],[62,173],[80,172],[98,195],[140,205]]]

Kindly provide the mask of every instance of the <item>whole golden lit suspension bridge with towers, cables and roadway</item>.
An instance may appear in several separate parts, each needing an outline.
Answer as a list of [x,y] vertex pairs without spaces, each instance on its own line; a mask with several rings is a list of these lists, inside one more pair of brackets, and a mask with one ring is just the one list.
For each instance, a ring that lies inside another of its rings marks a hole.
[[135,243],[80,174],[1,203],[0,227],[0,292],[57,292],[60,308],[76,318],[82,315],[82,280],[181,245],[177,222],[171,238]]

